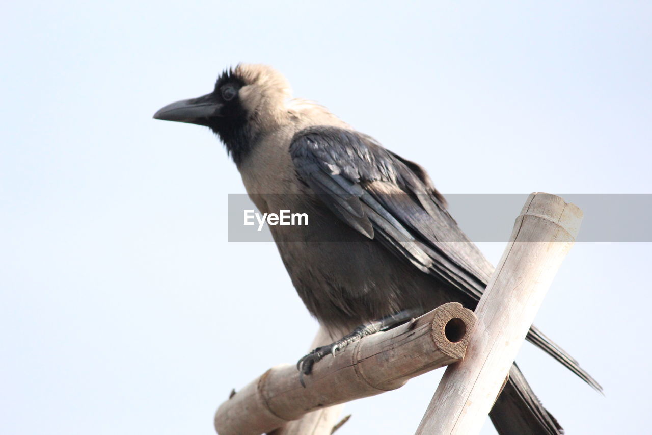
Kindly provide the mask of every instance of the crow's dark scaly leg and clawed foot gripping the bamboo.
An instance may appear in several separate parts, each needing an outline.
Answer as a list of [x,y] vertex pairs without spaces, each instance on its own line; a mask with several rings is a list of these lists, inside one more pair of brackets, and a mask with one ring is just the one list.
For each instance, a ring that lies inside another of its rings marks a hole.
[[357,342],[365,336],[376,334],[376,332],[381,330],[392,329],[393,327],[396,327],[401,323],[404,323],[420,314],[422,313],[419,310],[403,310],[398,313],[388,315],[387,317],[383,317],[382,319],[363,323],[354,329],[350,334],[340,338],[340,340],[337,340],[336,342],[331,343],[327,346],[321,346],[317,349],[314,349],[312,352],[308,353],[308,355],[305,355],[303,358],[301,358],[299,362],[297,362],[297,369],[299,370],[299,382],[301,382],[301,385],[305,387],[306,384],[303,381],[303,376],[311,374],[312,366],[314,366],[315,362],[321,361],[321,359],[323,359],[323,357],[326,355],[331,354],[333,357],[335,357],[337,352],[343,351],[349,344]]

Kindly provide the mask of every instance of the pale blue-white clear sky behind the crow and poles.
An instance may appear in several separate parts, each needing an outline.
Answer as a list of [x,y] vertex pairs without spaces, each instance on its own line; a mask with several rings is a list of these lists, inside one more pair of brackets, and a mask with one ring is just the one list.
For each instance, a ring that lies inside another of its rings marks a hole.
[[[231,388],[303,355],[317,325],[276,248],[227,241],[244,188],[222,145],[151,119],[239,61],[443,193],[652,190],[649,2],[22,1],[0,20],[2,434],[210,435]],[[569,434],[649,431],[650,248],[576,244],[537,317],[605,396],[518,357]],[[339,433],[413,433],[440,375],[349,404]]]

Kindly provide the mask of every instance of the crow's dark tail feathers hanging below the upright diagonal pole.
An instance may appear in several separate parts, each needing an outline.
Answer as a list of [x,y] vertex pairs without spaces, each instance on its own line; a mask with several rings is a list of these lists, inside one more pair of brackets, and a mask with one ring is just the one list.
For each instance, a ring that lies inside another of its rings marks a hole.
[[505,383],[489,413],[500,435],[561,435],[563,428],[557,423],[539,398],[535,396],[516,364],[509,370]]

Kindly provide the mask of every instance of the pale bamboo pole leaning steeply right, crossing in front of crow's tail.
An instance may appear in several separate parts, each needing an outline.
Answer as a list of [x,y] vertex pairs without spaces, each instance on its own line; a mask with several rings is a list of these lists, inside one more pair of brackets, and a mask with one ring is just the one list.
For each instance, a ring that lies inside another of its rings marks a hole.
[[574,204],[546,193],[529,196],[475,310],[466,358],[447,368],[418,435],[480,432],[581,221]]

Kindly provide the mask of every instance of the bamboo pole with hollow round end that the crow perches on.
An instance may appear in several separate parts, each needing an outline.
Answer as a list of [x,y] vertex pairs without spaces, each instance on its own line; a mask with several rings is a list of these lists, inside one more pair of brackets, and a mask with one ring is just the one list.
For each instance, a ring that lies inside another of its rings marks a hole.
[[[310,411],[396,389],[460,361],[473,325],[471,310],[456,302],[444,304],[400,327],[367,336],[335,358],[326,357],[304,378],[305,388],[295,365],[276,366],[218,408],[215,428],[219,435],[259,435]],[[304,432],[293,433],[322,432],[304,427]]]

